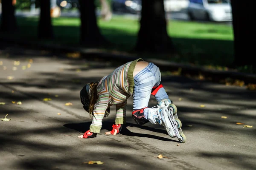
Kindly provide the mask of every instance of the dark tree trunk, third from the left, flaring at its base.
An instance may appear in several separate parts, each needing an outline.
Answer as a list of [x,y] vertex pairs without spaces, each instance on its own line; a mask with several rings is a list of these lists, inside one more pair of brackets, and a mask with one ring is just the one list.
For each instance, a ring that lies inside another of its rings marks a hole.
[[94,0],[79,0],[80,4],[80,42],[87,47],[105,45],[107,41],[99,31],[95,14]]

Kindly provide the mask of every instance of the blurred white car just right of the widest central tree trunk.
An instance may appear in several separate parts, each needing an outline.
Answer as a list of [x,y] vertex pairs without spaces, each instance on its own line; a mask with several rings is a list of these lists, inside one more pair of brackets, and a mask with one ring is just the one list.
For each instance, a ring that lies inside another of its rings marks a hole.
[[166,12],[181,11],[187,8],[189,0],[164,0],[164,9]]

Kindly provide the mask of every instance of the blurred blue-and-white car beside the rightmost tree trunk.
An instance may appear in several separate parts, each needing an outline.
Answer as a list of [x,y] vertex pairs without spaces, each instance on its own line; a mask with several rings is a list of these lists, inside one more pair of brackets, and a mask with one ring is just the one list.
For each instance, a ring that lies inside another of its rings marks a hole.
[[229,0],[189,0],[187,12],[191,20],[232,21]]

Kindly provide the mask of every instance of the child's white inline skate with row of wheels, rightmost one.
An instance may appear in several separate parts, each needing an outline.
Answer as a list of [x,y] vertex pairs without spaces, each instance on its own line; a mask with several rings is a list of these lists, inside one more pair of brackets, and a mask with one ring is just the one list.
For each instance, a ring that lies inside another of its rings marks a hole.
[[[186,136],[184,135],[184,133],[181,129],[182,123],[177,116],[177,107],[174,104],[172,104],[172,101],[170,99],[163,99],[161,102],[159,102],[157,104],[157,107],[158,108],[162,108],[162,107],[168,108],[168,113],[169,113],[168,118],[169,118],[170,122],[172,123],[172,129],[173,129],[173,133],[174,133],[173,137],[177,137],[181,143],[185,143]],[[171,135],[169,134],[169,136],[171,136]]]

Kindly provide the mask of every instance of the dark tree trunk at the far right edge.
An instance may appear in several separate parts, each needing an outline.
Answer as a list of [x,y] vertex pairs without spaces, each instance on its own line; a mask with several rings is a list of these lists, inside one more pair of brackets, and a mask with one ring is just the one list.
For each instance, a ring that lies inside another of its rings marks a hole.
[[256,33],[251,16],[254,16],[254,6],[247,6],[239,0],[231,0],[234,32],[234,62],[233,67],[256,66],[255,56]]

